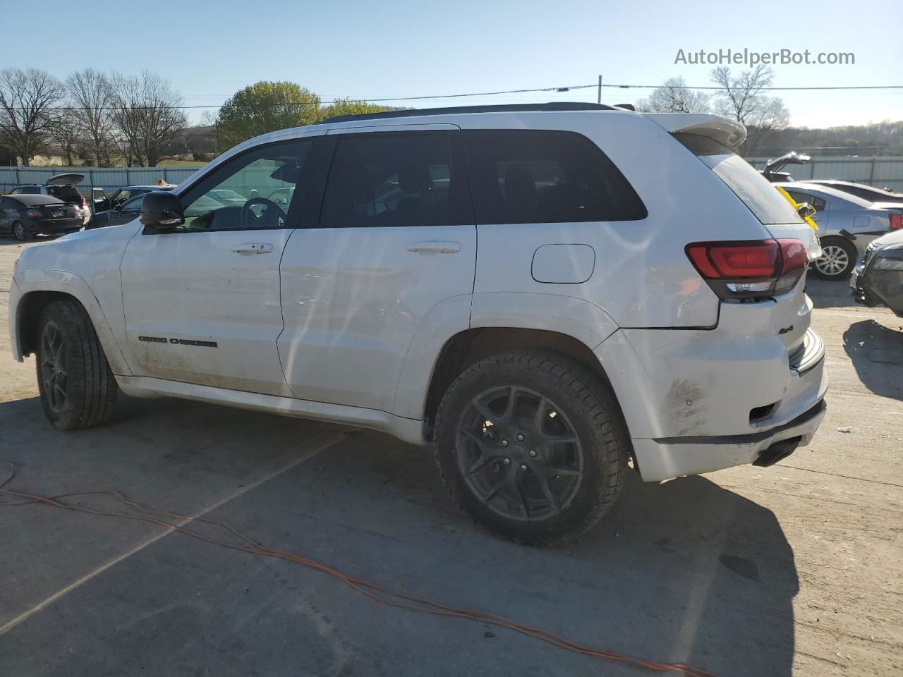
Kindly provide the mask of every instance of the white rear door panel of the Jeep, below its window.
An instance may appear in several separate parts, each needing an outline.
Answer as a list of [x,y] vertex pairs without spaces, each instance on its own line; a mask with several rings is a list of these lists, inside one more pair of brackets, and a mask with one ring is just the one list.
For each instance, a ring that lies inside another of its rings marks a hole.
[[[424,241],[454,242],[458,251],[408,251]],[[283,256],[279,338],[294,396],[395,411],[405,357],[433,308],[466,297],[444,321],[467,327],[476,246],[472,225],[295,232]],[[421,403],[414,417],[422,413]]]

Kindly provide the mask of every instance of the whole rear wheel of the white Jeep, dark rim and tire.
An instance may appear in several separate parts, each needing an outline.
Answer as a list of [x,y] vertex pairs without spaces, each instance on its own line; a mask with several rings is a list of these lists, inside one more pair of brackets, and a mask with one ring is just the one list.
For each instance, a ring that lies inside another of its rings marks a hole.
[[627,426],[610,387],[552,353],[470,366],[442,398],[433,451],[455,502],[517,543],[566,543],[601,519],[627,466]]

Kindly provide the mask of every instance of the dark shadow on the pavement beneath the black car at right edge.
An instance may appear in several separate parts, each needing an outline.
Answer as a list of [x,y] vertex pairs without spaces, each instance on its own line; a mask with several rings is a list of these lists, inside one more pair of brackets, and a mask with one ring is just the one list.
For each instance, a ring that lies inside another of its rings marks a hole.
[[[853,322],[843,332],[843,349],[862,385],[882,397],[903,400],[903,331],[875,320]],[[888,378],[888,371],[894,369],[900,377]]]

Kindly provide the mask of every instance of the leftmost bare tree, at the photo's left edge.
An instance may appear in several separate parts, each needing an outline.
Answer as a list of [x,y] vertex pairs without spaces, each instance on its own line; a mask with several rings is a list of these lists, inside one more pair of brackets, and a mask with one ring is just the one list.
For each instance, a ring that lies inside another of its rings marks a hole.
[[0,144],[28,166],[47,141],[64,96],[60,82],[46,70],[0,70]]

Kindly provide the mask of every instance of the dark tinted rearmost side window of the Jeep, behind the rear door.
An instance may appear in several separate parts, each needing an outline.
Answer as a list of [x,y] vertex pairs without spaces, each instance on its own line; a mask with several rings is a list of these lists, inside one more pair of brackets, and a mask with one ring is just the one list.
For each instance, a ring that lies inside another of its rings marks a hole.
[[630,221],[646,207],[582,134],[535,129],[464,132],[477,223]]

